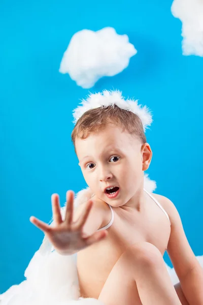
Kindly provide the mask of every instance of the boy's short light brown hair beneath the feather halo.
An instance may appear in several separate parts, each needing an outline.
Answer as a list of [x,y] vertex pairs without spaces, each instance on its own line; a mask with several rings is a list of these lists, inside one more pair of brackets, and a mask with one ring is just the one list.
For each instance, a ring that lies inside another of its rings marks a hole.
[[143,144],[147,141],[140,117],[114,104],[90,109],[83,113],[71,134],[74,147],[76,138],[85,139],[91,132],[102,130],[107,125],[121,127],[123,131],[140,138]]

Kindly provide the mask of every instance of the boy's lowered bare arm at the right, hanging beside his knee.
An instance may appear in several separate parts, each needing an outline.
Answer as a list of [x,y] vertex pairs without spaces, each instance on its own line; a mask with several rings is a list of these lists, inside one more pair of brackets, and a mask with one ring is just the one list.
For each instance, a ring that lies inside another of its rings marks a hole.
[[189,305],[202,305],[203,269],[189,245],[178,210],[171,200],[165,197],[163,200],[171,221],[171,235],[167,253]]

